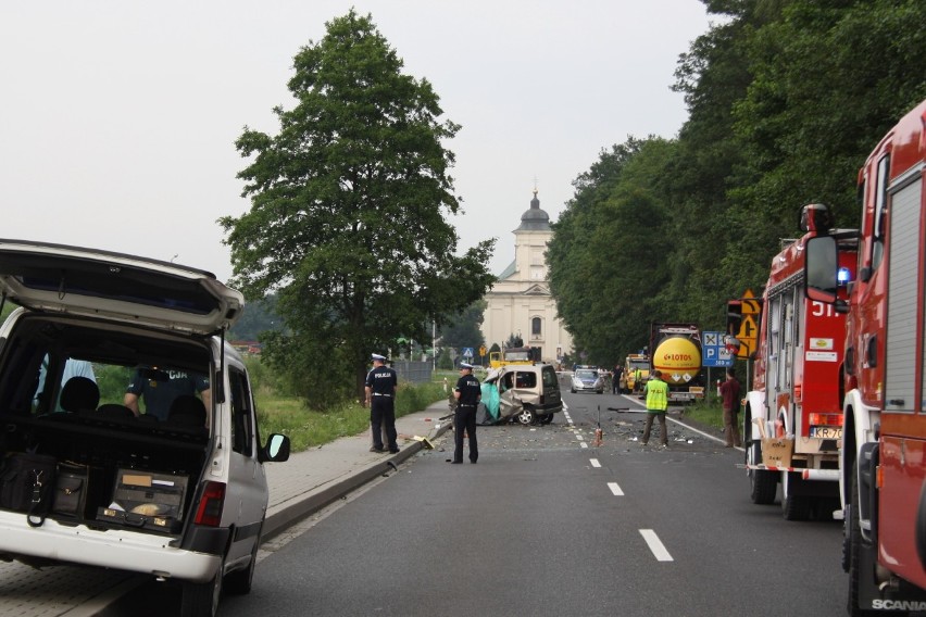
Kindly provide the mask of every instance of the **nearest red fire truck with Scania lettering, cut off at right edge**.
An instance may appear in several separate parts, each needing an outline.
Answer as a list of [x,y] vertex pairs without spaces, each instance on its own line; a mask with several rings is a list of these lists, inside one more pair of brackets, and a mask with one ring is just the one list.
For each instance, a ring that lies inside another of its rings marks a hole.
[[849,613],[926,610],[926,101],[859,173],[858,276],[808,243],[808,295],[847,313],[840,493]]

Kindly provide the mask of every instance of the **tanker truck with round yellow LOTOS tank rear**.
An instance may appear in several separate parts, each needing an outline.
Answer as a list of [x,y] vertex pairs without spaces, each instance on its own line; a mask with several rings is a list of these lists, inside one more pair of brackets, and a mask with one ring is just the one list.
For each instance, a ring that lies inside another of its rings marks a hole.
[[704,398],[701,370],[701,329],[694,324],[660,324],[650,327],[650,375],[662,373],[671,403]]

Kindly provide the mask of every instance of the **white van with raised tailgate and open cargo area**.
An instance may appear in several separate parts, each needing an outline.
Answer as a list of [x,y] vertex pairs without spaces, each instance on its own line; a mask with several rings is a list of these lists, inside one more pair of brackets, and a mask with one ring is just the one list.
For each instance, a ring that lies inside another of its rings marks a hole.
[[242,295],[204,270],[22,240],[0,240],[0,294],[20,305],[0,327],[0,558],[176,580],[183,615],[248,593],[263,465],[289,440],[260,440],[225,341]]

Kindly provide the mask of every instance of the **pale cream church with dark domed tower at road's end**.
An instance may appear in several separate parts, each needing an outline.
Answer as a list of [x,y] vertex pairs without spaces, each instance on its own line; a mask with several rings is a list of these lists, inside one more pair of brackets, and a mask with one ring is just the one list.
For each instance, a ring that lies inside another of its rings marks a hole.
[[572,352],[573,338],[556,314],[547,275],[547,243],[553,236],[550,215],[540,209],[537,190],[514,230],[514,262],[498,275],[486,294],[483,336],[486,348],[500,348],[512,335],[540,348],[543,362],[558,364]]

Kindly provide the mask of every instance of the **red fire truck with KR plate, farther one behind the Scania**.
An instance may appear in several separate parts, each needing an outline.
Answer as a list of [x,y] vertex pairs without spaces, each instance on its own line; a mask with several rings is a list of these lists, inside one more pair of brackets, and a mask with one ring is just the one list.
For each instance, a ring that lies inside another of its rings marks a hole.
[[[804,292],[806,242],[831,229],[829,210],[804,206],[804,236],[773,257],[762,300],[752,390],[742,414],[746,467],[753,503],[772,504],[781,487],[788,520],[831,519],[839,507],[839,448],[846,315]],[[841,240],[843,267],[854,269],[853,234]],[[844,289],[841,298],[846,298]]]

